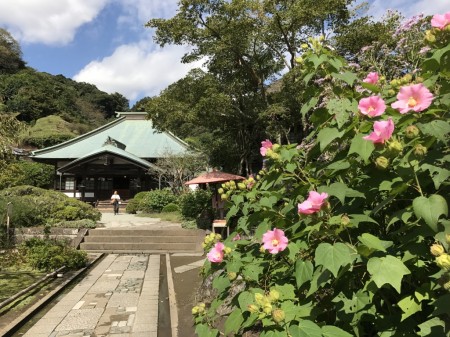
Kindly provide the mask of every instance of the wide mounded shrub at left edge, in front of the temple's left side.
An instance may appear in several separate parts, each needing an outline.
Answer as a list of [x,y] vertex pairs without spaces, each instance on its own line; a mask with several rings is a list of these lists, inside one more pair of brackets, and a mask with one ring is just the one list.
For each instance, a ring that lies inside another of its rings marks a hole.
[[43,226],[65,220],[100,220],[101,213],[89,204],[57,192],[33,186],[17,186],[0,191],[0,219],[6,218],[11,202],[14,227]]

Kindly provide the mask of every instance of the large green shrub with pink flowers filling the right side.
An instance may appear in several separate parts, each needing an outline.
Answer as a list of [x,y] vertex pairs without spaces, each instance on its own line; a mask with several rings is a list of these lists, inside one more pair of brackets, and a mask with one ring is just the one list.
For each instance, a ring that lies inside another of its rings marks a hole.
[[[317,44],[302,56],[312,131],[298,146],[263,142],[255,183],[227,191],[237,228],[208,247],[217,296],[197,306],[200,337],[449,334],[446,27],[421,73],[395,86],[359,80]],[[317,78],[331,78],[327,96]],[[381,114],[358,108],[371,96]]]

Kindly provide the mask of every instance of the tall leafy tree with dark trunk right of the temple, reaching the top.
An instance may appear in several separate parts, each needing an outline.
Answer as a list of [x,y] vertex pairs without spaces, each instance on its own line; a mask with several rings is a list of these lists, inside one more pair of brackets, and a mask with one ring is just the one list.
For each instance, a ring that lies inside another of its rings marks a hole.
[[232,110],[228,115],[235,118],[234,137],[228,143],[238,149],[239,171],[249,173],[252,153],[267,136],[263,121],[275,124],[271,130],[276,131],[299,114],[300,106],[293,98],[280,107],[283,114],[266,118],[264,112],[272,104],[268,85],[284,69],[296,66],[298,47],[309,35],[345,22],[352,1],[183,0],[173,18],[152,19],[147,26],[156,28],[155,39],[161,46],[192,46],[184,62],[205,60],[208,73],[228,98],[226,107]]

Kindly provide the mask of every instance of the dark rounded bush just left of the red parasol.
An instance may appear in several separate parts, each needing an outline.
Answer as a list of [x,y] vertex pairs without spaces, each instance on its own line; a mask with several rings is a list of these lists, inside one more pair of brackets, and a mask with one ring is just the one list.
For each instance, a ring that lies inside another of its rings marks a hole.
[[196,220],[197,227],[209,228],[213,220],[212,194],[206,190],[196,190],[180,197],[181,215],[186,220]]

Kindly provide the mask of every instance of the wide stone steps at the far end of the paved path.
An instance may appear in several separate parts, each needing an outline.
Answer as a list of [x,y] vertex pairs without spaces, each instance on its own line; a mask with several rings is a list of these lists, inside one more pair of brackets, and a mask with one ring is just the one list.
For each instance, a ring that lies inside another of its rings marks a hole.
[[205,232],[192,229],[91,229],[80,248],[104,253],[203,253]]

